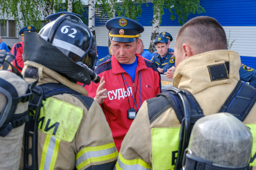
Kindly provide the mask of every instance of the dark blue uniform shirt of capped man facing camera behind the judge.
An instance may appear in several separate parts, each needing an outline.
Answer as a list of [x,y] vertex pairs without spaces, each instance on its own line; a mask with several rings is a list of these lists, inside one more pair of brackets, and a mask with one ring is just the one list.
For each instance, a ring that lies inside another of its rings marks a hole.
[[175,66],[175,57],[173,56],[173,51],[170,49],[163,59],[161,59],[161,56],[158,53],[155,53],[150,61],[154,63],[157,68],[164,69],[161,74],[164,74],[167,69],[170,69],[173,65]]

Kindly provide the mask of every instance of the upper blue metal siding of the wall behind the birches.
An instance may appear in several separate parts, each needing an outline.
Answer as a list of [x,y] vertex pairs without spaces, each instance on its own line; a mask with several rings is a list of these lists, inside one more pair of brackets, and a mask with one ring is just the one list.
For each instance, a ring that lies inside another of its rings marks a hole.
[[[255,0],[201,0],[200,5],[206,13],[191,14],[188,19],[196,16],[210,16],[216,18],[222,26],[256,26],[256,1]],[[142,13],[138,21],[143,26],[152,26],[153,4],[142,4]],[[88,10],[88,8],[86,8]],[[96,9],[95,26],[105,26],[107,15],[101,13],[101,8]],[[98,15],[105,18],[100,19]],[[178,16],[173,21],[170,19],[170,11],[164,9],[161,26],[180,26]],[[87,12],[84,17],[88,18]]]

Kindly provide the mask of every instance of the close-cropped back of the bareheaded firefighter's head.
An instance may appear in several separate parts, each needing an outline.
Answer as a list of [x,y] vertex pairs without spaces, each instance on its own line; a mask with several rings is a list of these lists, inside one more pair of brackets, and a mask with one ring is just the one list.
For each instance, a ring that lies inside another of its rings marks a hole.
[[192,18],[180,28],[175,47],[180,50],[184,43],[193,46],[196,54],[228,49],[223,27],[216,19],[208,16]]

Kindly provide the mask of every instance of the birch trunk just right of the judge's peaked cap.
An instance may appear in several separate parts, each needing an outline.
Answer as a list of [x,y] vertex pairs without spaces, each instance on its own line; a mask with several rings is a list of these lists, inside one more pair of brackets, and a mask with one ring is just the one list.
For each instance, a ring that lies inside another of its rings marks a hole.
[[[159,11],[159,10],[157,10]],[[159,24],[160,24],[160,12],[156,12],[156,15],[153,15],[152,19],[152,32],[151,32],[151,40],[150,40],[150,45],[148,48],[148,51],[150,53],[153,53],[155,51],[155,45],[154,43],[156,42],[156,37],[159,35]]]

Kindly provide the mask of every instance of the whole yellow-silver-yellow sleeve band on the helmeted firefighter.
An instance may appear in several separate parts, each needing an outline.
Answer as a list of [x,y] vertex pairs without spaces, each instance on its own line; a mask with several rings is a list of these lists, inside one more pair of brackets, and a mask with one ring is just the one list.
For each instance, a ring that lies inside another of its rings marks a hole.
[[100,162],[117,157],[115,143],[85,147],[76,154],[76,169],[80,170],[92,162]]

